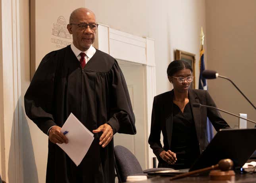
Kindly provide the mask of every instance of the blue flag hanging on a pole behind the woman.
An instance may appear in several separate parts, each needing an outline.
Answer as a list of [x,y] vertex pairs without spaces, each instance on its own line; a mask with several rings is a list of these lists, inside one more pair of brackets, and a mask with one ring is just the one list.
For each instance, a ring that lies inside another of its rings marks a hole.
[[[202,49],[200,51],[199,65],[200,65],[200,76],[199,76],[199,87],[198,87],[198,89],[207,90],[206,79],[204,79],[204,77],[202,76],[202,73],[205,69],[203,45],[202,45]],[[206,137],[207,137],[208,142],[210,142],[212,140],[212,138],[214,137],[213,126],[212,126],[212,123],[210,122],[210,120],[208,119],[208,117],[207,117],[207,123],[206,123]]]

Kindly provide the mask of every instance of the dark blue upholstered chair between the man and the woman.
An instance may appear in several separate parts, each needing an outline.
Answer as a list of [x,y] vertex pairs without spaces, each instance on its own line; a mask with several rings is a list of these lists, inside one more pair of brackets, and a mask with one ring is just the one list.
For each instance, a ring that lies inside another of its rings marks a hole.
[[115,172],[119,183],[126,181],[129,175],[147,175],[148,172],[162,171],[162,170],[173,170],[171,168],[150,168],[142,170],[141,165],[137,158],[127,149],[121,145],[114,147],[115,155]]

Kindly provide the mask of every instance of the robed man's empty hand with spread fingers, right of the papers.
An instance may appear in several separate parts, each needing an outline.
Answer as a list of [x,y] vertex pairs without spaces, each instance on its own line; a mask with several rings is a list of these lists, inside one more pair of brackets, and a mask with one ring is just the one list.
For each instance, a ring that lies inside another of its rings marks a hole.
[[96,130],[92,130],[93,133],[98,133],[98,132],[103,132],[102,135],[100,136],[100,145],[102,147],[106,147],[108,143],[112,140],[113,138],[113,129],[110,125],[105,123],[104,125],[100,125]]

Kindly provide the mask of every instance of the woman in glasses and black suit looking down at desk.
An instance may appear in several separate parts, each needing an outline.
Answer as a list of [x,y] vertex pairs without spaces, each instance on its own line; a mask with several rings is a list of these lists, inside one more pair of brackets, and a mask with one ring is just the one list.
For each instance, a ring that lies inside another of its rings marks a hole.
[[[191,105],[200,103],[216,107],[207,91],[189,89],[192,72],[188,62],[174,60],[167,68],[173,90],[154,97],[148,143],[158,158],[158,167],[190,168],[208,145],[207,117],[217,131],[229,128],[219,111]],[[164,147],[160,142],[161,131]]]

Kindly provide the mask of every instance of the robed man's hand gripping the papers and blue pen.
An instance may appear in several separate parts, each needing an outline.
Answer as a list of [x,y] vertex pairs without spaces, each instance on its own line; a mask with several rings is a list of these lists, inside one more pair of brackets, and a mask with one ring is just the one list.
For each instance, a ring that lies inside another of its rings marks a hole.
[[67,143],[67,137],[60,131],[60,126],[52,126],[49,130],[49,140],[52,143]]

